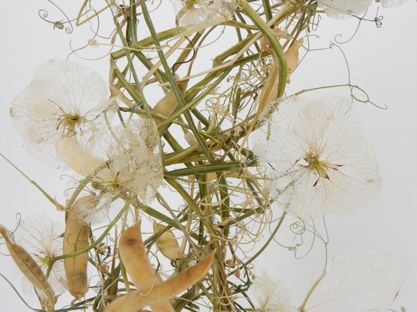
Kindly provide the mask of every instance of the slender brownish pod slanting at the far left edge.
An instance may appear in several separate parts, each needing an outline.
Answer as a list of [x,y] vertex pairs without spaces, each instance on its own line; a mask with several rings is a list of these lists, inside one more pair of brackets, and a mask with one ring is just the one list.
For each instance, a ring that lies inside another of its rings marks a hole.
[[8,235],[7,229],[0,225],[0,233],[3,236],[4,241],[6,241],[7,248],[12,256],[13,260],[22,271],[22,273],[27,277],[29,281],[38,288],[40,291],[43,291],[44,295],[47,297],[45,300],[42,300],[42,306],[53,307],[56,303],[56,297],[54,291],[47,281],[38,263],[31,257],[22,246],[17,245],[13,239]]

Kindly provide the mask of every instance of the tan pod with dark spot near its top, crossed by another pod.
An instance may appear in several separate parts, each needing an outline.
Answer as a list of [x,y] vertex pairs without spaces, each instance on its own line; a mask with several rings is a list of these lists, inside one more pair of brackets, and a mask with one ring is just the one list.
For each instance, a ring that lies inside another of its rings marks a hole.
[[[124,268],[136,288],[149,288],[163,281],[149,262],[140,233],[140,222],[122,233],[119,240],[119,253]],[[154,312],[174,312],[169,300],[151,304],[151,309]]]

